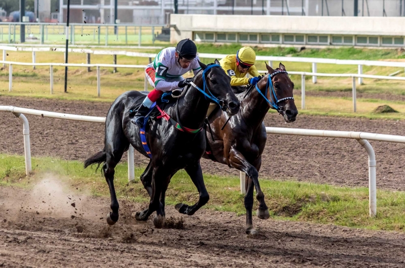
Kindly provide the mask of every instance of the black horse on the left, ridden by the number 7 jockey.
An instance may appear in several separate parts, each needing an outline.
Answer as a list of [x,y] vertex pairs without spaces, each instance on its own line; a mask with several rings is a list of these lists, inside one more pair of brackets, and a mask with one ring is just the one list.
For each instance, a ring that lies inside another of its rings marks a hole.
[[[215,60],[214,65],[200,63],[202,70],[194,76],[194,85],[206,94],[211,94],[229,114],[239,111],[240,102],[232,92],[230,78]],[[205,131],[188,132],[187,129],[203,129],[204,120],[210,105],[210,99],[199,92],[195,86],[184,89],[184,95],[177,103],[159,103],[158,106],[167,112],[179,127],[162,119],[149,121],[146,128],[146,140],[151,152],[151,160],[146,171],[151,173],[151,180],[142,180],[150,195],[147,209],[137,212],[137,220],[147,220],[156,211],[153,224],[162,228],[165,224],[165,194],[171,177],[180,169],[185,169],[196,185],[199,200],[192,206],[182,204],[183,210],[191,215],[204,206],[209,195],[204,185],[203,172],[199,160],[206,149]],[[111,195],[112,212],[107,214],[107,223],[115,224],[118,220],[118,201],[114,189],[114,168],[128,150],[130,144],[145,157],[146,154],[140,139],[140,128],[131,122],[130,110],[138,107],[145,95],[130,91],[120,95],[111,105],[105,122],[105,145],[103,151],[96,153],[85,161],[85,167],[103,162],[103,172]],[[146,172],[145,171],[145,172]]]

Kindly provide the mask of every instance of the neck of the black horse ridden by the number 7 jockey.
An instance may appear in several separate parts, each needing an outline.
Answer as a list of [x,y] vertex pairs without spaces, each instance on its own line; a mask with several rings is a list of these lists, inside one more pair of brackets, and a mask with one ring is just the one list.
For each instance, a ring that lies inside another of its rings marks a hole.
[[[203,80],[198,79],[195,84],[203,89]],[[209,100],[198,92],[196,88],[190,86],[182,100],[179,102],[180,123],[188,128],[197,129],[202,126],[207,116]],[[177,117],[177,115],[176,115]],[[177,118],[178,119],[178,118]]]

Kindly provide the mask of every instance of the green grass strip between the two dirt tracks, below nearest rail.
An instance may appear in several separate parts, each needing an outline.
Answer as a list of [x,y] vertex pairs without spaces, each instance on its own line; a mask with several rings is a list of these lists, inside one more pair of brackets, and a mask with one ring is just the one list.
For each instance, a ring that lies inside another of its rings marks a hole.
[[[44,174],[69,186],[86,189],[92,196],[109,196],[104,177],[95,168],[83,169],[78,161],[56,158],[32,158],[33,174],[24,174],[22,156],[0,154],[0,186],[30,189]],[[135,183],[128,183],[127,164],[121,163],[115,171],[115,189],[119,199],[147,202],[149,197],[139,182],[142,168],[136,168]],[[99,170],[100,171],[100,170]],[[244,196],[239,191],[236,177],[205,174],[210,201],[205,208],[245,214]],[[405,193],[377,191],[377,217],[370,218],[368,189],[335,187],[299,182],[261,180],[270,215],[275,219],[310,221],[352,228],[403,231],[405,228]],[[83,192],[82,192],[83,193]],[[167,204],[196,202],[197,191],[184,171],[178,172],[169,185]],[[257,207],[257,203],[254,206]]]

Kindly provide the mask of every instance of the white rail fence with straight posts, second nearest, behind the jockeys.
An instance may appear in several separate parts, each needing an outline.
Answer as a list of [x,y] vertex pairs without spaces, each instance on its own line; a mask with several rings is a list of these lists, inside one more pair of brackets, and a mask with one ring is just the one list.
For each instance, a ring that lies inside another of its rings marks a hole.
[[[133,52],[135,53],[135,52]],[[143,53],[146,54],[147,53]],[[70,67],[96,67],[97,68],[97,96],[101,95],[101,73],[100,67],[105,68],[142,68],[144,69],[146,65],[124,65],[124,64],[77,64],[77,63],[26,63],[26,62],[11,62],[11,61],[0,61],[3,64],[9,64],[9,91],[13,91],[13,65],[22,66],[49,66],[50,69],[50,90],[53,94],[53,67],[54,66],[70,66]],[[405,63],[404,63],[405,64]],[[259,71],[259,73],[265,73],[267,71]],[[352,96],[353,96],[353,111],[357,111],[357,100],[356,100],[356,77],[358,78],[370,78],[370,79],[385,79],[385,80],[400,80],[405,81],[405,77],[396,76],[383,76],[383,75],[369,75],[369,74],[336,74],[336,73],[312,73],[312,72],[295,72],[289,71],[290,75],[301,75],[301,109],[305,109],[305,76],[323,76],[323,77],[352,77]],[[144,92],[148,91],[148,84],[146,75],[144,75]]]

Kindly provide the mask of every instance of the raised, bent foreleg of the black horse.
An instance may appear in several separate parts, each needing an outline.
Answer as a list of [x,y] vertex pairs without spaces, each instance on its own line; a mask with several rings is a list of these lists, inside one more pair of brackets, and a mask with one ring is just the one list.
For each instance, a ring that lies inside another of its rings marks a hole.
[[197,190],[199,193],[199,199],[198,199],[198,202],[192,206],[179,203],[175,206],[175,208],[180,213],[187,214],[187,215],[193,215],[195,213],[195,211],[197,211],[200,207],[207,204],[208,200],[210,199],[210,196],[209,196],[206,186],[204,184],[203,171],[201,170],[199,161],[195,164],[188,165],[184,169],[186,170],[187,174],[190,176],[191,181],[193,182],[195,187],[197,187]]

